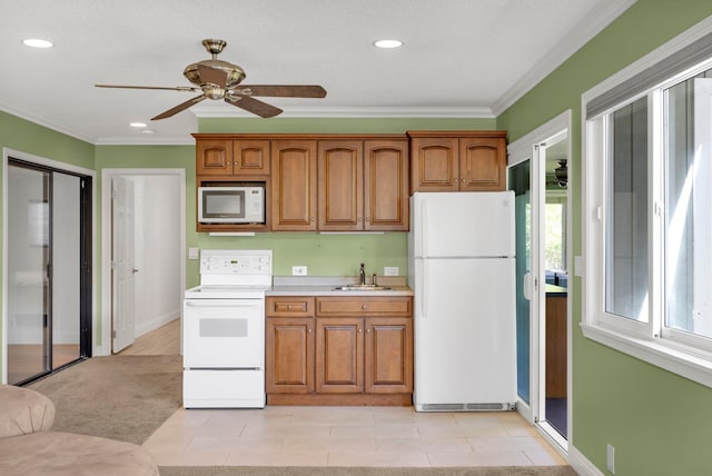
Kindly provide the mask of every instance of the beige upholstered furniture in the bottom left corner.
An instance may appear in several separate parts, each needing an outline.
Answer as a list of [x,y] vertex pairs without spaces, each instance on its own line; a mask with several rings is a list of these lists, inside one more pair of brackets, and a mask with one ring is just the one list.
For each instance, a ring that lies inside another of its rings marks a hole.
[[148,452],[131,443],[52,432],[46,396],[0,385],[0,474],[3,476],[158,476]]

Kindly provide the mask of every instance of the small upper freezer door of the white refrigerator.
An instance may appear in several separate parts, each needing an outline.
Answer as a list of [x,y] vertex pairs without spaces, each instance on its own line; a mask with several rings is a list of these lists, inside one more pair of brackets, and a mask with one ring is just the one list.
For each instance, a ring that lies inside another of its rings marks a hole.
[[415,257],[514,256],[514,192],[416,192]]

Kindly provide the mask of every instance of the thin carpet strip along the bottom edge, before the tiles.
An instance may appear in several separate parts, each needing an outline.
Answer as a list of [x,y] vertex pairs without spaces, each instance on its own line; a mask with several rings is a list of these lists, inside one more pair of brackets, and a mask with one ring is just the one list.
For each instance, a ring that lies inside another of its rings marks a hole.
[[571,466],[452,468],[161,466],[160,476],[576,476]]

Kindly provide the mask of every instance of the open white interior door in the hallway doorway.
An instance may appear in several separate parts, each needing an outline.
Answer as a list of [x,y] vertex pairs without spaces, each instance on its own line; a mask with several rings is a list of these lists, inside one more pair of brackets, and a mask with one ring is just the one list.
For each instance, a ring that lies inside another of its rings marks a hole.
[[136,269],[134,182],[125,177],[111,180],[112,245],[112,343],[116,354],[136,339]]

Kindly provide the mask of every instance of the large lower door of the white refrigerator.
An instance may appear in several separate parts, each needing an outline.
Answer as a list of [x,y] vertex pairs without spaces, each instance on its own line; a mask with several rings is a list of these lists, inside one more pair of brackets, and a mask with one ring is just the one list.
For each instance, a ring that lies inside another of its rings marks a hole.
[[516,401],[514,259],[415,260],[416,408]]

